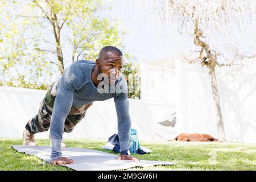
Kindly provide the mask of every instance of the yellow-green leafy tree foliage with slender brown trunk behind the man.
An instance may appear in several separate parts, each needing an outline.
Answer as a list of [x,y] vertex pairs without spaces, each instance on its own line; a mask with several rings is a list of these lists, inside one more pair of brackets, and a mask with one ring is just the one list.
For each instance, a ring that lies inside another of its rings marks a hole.
[[3,2],[10,15],[2,18],[6,32],[0,46],[2,79],[7,85],[40,88],[59,77],[64,64],[95,59],[104,46],[123,48],[123,32],[117,20],[104,14],[110,7],[103,1]]

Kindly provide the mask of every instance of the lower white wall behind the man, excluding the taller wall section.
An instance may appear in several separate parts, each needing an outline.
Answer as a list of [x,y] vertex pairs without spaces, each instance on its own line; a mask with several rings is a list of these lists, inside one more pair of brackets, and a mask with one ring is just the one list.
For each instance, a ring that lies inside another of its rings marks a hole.
[[[45,90],[11,88],[0,86],[0,138],[22,138],[22,132],[29,119],[38,113],[39,103]],[[139,131],[140,140],[166,140],[174,138],[172,127],[164,127],[157,122],[166,119],[172,105],[158,102],[131,100],[130,115],[132,127]],[[117,116],[114,100],[94,102],[85,118],[72,133],[64,133],[64,138],[108,139],[117,133]],[[49,132],[38,133],[35,138],[48,138]]]

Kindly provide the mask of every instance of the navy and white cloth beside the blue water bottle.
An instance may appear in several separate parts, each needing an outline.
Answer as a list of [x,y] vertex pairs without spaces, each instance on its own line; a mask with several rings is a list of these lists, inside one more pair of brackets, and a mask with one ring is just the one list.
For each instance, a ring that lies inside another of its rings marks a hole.
[[[108,139],[108,143],[102,147],[103,149],[113,150],[115,153],[120,153],[120,145],[118,134],[114,134]],[[149,148],[139,146],[138,142],[138,154],[147,154],[152,152]],[[130,154],[130,151],[128,152]]]

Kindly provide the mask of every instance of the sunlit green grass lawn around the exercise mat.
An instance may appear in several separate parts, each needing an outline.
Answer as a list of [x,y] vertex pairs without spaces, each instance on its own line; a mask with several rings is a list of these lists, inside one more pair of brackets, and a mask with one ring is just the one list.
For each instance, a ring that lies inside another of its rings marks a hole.
[[[49,140],[36,140],[38,145],[49,145]],[[105,140],[64,140],[67,146],[90,148],[115,154],[102,149]],[[36,156],[16,152],[11,145],[22,144],[21,139],[0,139],[0,170],[71,170],[52,166]],[[129,170],[255,170],[256,144],[233,142],[156,142],[140,141],[141,146],[152,152],[138,156],[139,160],[163,160],[174,166],[131,168]]]

